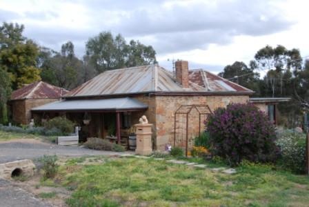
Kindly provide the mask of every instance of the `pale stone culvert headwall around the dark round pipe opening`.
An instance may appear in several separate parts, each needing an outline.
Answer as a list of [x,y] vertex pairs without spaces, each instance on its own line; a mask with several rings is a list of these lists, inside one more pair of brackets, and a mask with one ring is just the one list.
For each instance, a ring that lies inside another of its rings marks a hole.
[[0,164],[0,179],[11,179],[12,175],[24,175],[31,177],[34,175],[35,166],[30,159],[11,161]]

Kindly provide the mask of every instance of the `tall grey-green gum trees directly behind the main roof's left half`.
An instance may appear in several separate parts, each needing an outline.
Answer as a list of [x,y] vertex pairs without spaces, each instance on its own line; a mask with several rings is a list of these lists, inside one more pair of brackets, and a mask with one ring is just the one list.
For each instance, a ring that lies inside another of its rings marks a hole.
[[101,32],[86,43],[86,56],[97,72],[156,63],[155,54],[152,46],[134,40],[127,44],[121,34],[113,37],[110,32]]

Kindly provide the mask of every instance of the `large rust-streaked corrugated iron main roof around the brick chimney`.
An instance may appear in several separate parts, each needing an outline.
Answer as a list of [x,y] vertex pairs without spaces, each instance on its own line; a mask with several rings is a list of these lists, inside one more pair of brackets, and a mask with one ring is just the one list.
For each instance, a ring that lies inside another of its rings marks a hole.
[[107,70],[71,90],[66,97],[141,92],[253,92],[248,88],[201,69],[189,70],[189,86],[190,88],[182,88],[172,72],[154,64]]

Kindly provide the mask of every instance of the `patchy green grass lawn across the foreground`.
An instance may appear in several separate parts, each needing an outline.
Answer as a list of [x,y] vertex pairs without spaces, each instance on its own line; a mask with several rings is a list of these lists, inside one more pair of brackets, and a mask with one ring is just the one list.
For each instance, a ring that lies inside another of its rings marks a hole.
[[67,161],[54,179],[69,206],[308,206],[309,178],[246,164],[234,175],[155,159]]

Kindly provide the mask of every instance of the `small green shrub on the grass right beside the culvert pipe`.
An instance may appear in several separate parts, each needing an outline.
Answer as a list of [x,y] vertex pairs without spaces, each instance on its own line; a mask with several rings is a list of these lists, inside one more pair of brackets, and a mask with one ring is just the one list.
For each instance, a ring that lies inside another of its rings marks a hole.
[[54,178],[54,176],[57,173],[58,170],[58,165],[56,164],[58,160],[57,155],[43,155],[43,157],[41,157],[39,159],[39,161],[41,161],[42,166],[42,170],[44,171],[43,174],[43,179],[49,179],[49,178]]

